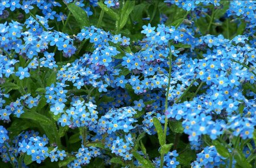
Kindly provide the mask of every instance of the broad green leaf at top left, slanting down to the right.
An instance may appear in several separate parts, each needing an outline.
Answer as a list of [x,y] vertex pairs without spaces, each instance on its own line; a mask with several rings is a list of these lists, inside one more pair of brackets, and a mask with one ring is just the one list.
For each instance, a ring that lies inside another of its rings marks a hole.
[[67,6],[81,28],[90,26],[88,15],[81,7],[76,6],[74,3],[68,3]]

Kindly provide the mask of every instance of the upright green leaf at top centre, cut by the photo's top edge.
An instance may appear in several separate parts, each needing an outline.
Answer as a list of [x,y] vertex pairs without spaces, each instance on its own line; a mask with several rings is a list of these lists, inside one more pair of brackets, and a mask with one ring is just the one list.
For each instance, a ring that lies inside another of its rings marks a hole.
[[133,11],[135,5],[135,1],[126,1],[125,5],[123,5],[123,8],[121,9],[121,19],[120,19],[120,24],[119,24],[119,30],[122,29],[131,13]]

